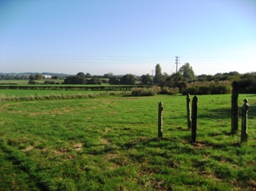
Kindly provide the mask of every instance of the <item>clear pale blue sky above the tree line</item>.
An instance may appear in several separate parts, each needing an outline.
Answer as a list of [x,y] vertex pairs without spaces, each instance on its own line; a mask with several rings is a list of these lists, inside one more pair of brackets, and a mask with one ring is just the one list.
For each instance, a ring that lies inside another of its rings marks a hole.
[[0,0],[0,72],[256,72],[256,0]]

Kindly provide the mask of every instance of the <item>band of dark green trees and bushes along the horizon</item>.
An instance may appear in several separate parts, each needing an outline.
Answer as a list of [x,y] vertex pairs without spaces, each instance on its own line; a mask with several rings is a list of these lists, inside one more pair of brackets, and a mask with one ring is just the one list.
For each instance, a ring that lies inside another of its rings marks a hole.
[[[0,78],[11,80],[10,76],[15,74],[0,74]],[[21,78],[21,76],[19,76]],[[42,80],[41,73],[30,74],[29,84],[37,83],[34,80]],[[215,75],[202,74],[195,76],[195,72],[189,63],[184,63],[178,72],[171,75],[161,72],[161,66],[157,63],[153,76],[144,74],[135,76],[126,74],[124,76],[113,75],[108,72],[103,76],[92,76],[90,73],[78,72],[73,76],[52,76],[52,80],[46,80],[44,84],[55,84],[54,80],[63,79],[66,85],[157,85],[167,88],[178,88],[180,93],[229,93],[232,81],[238,82],[241,93],[256,93],[256,72],[240,74],[239,72],[217,73]],[[59,82],[58,82],[59,83]],[[215,85],[215,86],[214,86]],[[219,87],[217,87],[219,86]],[[221,86],[221,87],[220,87]],[[216,90],[218,89],[218,90]]]

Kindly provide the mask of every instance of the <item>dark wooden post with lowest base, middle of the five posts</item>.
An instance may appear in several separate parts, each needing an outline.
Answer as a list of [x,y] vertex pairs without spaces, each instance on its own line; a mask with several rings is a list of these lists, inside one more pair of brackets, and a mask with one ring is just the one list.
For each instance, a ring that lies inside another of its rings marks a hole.
[[198,101],[198,98],[194,96],[194,98],[192,99],[192,128],[191,128],[192,144],[196,142],[197,101]]

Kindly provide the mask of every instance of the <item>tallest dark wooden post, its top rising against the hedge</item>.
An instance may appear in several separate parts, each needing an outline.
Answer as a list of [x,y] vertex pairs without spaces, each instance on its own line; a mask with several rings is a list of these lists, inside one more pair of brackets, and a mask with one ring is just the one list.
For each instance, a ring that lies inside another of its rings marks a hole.
[[238,131],[238,83],[232,82],[232,134]]

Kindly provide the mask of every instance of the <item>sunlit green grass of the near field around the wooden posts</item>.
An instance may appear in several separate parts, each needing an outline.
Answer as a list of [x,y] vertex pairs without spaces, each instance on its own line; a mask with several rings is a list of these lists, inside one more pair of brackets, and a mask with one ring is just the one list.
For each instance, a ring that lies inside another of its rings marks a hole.
[[[239,97],[240,114],[249,99],[249,139],[242,144],[240,132],[230,133],[231,95],[198,98],[195,145],[185,96],[1,102],[1,188],[255,189],[256,95]],[[164,138],[158,140],[160,101]]]

